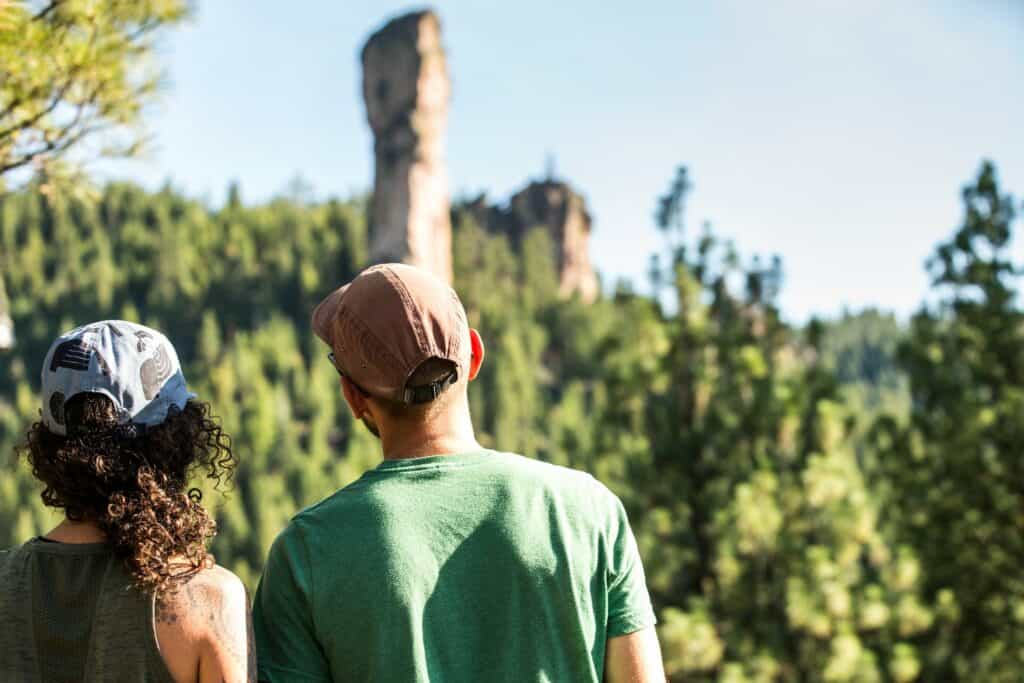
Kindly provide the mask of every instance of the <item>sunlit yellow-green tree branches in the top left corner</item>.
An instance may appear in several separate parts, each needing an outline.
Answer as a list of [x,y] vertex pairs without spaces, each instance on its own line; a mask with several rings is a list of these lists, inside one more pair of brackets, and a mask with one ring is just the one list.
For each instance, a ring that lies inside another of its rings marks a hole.
[[75,152],[134,154],[160,84],[154,44],[185,0],[0,2],[0,179]]

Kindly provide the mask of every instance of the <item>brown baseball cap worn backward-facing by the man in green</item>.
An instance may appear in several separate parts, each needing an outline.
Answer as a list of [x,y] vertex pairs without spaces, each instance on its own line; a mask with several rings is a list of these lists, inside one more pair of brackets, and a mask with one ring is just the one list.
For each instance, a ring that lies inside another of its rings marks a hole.
[[[402,263],[367,268],[313,310],[313,332],[331,347],[339,372],[367,393],[425,403],[469,372],[466,309],[445,283]],[[409,386],[430,358],[454,364],[442,380]]]

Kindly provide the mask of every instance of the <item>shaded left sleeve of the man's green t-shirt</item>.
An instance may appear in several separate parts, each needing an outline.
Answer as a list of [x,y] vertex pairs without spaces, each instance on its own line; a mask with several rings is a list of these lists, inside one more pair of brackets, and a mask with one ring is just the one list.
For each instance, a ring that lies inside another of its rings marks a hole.
[[290,525],[273,542],[256,589],[253,631],[259,680],[330,681],[312,614],[312,578],[299,529]]

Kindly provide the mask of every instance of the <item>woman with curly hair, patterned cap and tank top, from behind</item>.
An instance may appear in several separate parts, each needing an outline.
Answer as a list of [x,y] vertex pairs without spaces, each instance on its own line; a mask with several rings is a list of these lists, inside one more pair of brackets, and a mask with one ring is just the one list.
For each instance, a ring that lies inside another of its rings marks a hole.
[[65,519],[0,551],[0,680],[254,679],[245,589],[188,487],[236,460],[166,337],[104,321],[57,338],[19,454]]

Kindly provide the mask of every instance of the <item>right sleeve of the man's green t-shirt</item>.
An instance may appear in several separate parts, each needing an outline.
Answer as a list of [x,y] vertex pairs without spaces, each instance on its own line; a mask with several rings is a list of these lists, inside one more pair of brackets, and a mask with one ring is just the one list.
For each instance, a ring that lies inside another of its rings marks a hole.
[[614,515],[608,539],[611,550],[608,565],[608,638],[634,633],[657,622],[626,509],[617,498],[612,498]]

